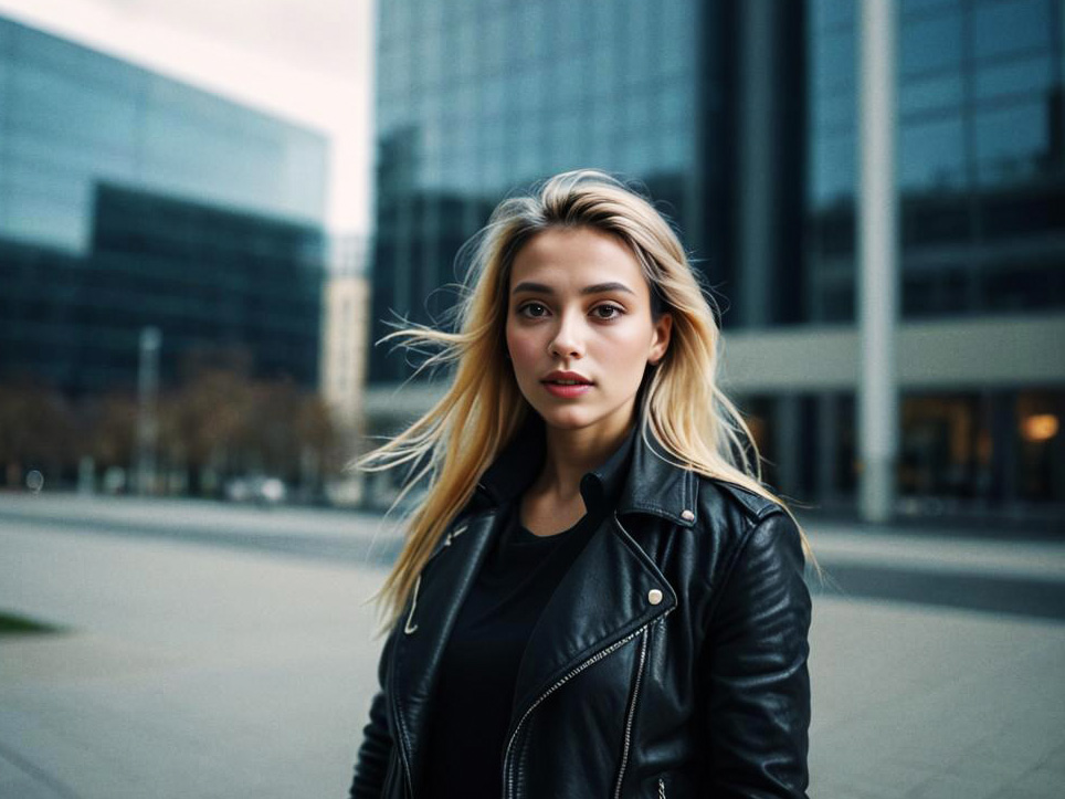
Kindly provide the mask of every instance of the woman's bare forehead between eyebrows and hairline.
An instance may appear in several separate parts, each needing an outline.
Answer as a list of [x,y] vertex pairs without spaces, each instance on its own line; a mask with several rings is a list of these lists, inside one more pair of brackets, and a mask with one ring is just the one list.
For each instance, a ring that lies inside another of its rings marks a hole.
[[590,228],[552,229],[532,236],[514,259],[510,287],[534,276],[560,288],[618,281],[637,293],[649,291],[633,252],[620,239]]

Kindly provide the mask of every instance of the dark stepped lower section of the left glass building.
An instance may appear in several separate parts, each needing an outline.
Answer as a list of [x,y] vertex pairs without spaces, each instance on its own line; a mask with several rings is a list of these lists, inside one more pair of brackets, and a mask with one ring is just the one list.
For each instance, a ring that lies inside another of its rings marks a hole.
[[130,389],[140,330],[156,327],[164,385],[179,381],[182,355],[215,350],[316,386],[317,228],[107,185],[93,224],[84,256],[0,243],[7,375],[72,397]]

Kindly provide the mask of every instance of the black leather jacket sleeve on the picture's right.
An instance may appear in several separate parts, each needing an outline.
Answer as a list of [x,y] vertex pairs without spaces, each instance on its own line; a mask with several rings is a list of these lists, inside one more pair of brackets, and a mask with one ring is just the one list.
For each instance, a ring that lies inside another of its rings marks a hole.
[[718,587],[702,662],[710,793],[806,796],[810,591],[799,529],[760,517]]

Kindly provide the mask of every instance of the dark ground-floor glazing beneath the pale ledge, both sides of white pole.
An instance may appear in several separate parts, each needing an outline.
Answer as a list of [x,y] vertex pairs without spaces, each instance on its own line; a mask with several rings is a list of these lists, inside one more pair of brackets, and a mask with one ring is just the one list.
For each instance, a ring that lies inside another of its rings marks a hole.
[[[751,395],[741,406],[763,480],[800,507],[853,505],[855,396]],[[1059,507],[1065,498],[1065,389],[906,391],[900,404],[900,509],[919,515]]]

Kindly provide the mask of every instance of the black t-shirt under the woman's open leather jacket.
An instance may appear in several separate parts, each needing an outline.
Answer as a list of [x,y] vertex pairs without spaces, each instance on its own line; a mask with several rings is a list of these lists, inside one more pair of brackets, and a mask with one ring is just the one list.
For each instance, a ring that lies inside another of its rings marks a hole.
[[569,529],[537,536],[521,526],[518,500],[506,509],[441,659],[421,796],[502,796],[503,749],[525,645],[570,564],[613,512],[631,443],[632,434],[584,475],[591,481],[582,483],[587,512]]

